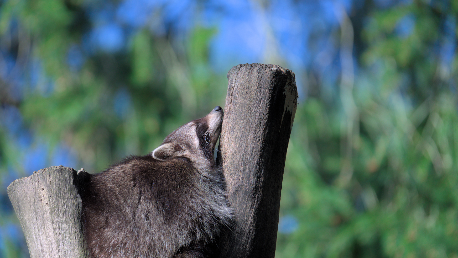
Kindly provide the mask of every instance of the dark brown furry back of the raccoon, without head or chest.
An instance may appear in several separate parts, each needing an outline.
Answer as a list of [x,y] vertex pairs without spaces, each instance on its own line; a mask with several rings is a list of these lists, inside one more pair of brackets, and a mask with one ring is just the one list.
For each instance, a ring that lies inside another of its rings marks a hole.
[[[82,193],[92,257],[172,257],[195,239],[202,214],[196,169],[174,159],[130,157],[93,175]],[[197,239],[195,239],[197,240]]]

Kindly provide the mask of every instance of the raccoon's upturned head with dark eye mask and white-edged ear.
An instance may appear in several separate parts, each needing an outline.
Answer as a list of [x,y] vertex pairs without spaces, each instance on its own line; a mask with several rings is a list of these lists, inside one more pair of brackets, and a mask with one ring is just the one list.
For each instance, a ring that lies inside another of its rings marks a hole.
[[194,163],[213,162],[213,151],[221,133],[223,109],[215,107],[207,116],[193,120],[165,137],[153,151],[158,160],[184,158]]

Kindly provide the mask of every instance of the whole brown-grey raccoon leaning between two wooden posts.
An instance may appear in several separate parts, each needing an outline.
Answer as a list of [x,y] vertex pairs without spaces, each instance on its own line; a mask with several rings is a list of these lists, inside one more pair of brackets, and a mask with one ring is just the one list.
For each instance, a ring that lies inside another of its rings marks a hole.
[[146,156],[89,176],[82,223],[93,258],[204,257],[232,211],[213,160],[223,110],[186,123]]

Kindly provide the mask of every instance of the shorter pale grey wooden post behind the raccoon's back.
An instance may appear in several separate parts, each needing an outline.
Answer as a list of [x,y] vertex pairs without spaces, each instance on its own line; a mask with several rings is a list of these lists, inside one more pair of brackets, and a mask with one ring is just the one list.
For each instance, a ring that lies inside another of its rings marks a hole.
[[87,258],[78,186],[83,173],[53,166],[14,180],[7,188],[31,258]]

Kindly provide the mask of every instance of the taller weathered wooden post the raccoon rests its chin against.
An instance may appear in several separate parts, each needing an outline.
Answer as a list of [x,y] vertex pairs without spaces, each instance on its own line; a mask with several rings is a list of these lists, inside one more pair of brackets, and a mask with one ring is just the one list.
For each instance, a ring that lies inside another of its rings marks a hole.
[[277,65],[232,67],[220,138],[234,229],[220,258],[273,258],[286,149],[297,105],[294,73]]

